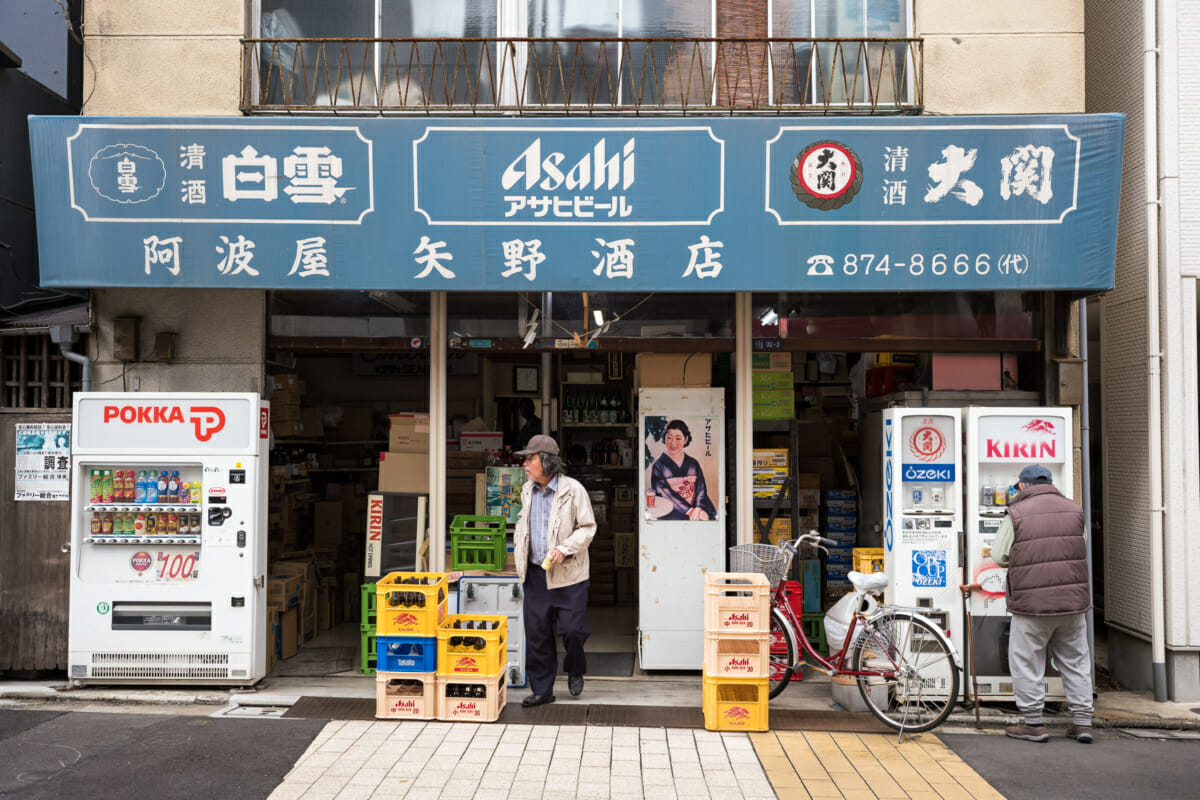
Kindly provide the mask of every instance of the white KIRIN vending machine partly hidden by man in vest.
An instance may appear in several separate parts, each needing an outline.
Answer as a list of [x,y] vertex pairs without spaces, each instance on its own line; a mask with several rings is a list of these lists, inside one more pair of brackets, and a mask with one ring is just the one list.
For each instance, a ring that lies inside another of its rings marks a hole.
[[[1021,468],[1042,464],[1050,470],[1055,487],[1068,498],[1073,495],[1073,417],[1069,408],[978,405],[967,408],[966,415],[965,577],[980,587],[970,601],[979,699],[1006,700],[1013,696],[1008,667],[1010,616],[1004,604],[1008,570],[992,560],[991,546],[1015,495]],[[1045,674],[1046,699],[1066,699],[1054,663],[1048,664]]]

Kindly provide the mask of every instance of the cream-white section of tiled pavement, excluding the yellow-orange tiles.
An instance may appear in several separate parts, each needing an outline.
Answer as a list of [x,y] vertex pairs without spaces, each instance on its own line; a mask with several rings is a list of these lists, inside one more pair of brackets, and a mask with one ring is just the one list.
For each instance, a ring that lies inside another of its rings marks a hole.
[[330,722],[271,800],[767,800],[745,734],[680,728]]

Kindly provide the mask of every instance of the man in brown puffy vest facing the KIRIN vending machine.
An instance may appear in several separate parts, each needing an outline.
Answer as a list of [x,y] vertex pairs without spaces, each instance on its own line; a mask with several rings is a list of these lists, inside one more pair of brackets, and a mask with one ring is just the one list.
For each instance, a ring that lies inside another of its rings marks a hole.
[[1013,615],[1008,666],[1013,697],[1025,722],[1009,726],[1013,739],[1046,741],[1046,652],[1062,675],[1072,726],[1067,735],[1092,741],[1092,668],[1087,649],[1087,537],[1084,510],[1054,487],[1050,470],[1031,464],[1018,477],[1020,493],[1008,506],[992,543],[996,564],[1008,567]]

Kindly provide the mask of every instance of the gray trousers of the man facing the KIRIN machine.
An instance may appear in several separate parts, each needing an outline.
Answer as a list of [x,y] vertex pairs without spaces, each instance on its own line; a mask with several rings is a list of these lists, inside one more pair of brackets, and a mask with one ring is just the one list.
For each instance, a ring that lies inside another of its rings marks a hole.
[[1025,716],[1025,723],[1043,723],[1048,651],[1062,675],[1072,722],[1092,724],[1092,662],[1087,652],[1087,619],[1082,613],[1055,616],[1013,614],[1008,667],[1013,673],[1013,698]]

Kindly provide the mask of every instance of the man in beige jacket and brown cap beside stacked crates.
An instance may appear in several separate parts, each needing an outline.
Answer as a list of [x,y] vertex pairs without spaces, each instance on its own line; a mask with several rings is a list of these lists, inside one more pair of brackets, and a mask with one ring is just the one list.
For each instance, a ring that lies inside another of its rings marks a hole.
[[533,692],[521,704],[532,708],[554,702],[556,622],[563,634],[566,686],[574,697],[583,691],[583,643],[592,633],[583,621],[588,546],[596,522],[587,489],[566,476],[553,437],[538,434],[517,455],[524,456],[527,480],[512,545],[517,575],[524,583],[526,674]]

